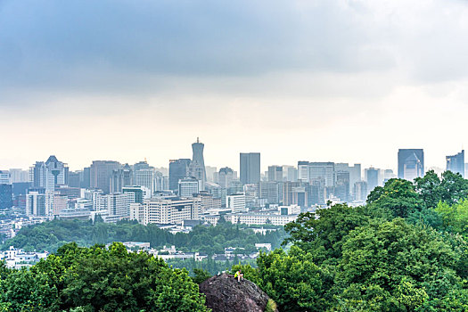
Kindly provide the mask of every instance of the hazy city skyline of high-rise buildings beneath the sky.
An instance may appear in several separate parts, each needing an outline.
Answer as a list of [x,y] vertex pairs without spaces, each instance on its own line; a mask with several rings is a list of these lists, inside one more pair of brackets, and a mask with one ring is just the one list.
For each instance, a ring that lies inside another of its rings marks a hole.
[[[300,160],[297,166],[267,166],[261,172],[259,152],[241,152],[239,175],[229,167],[205,166],[204,144],[192,144],[192,159],[169,160],[154,168],[146,160],[133,165],[94,160],[70,171],[55,156],[29,170],[0,170],[0,231],[10,237],[18,222],[53,218],[102,218],[104,222],[177,225],[185,220],[216,224],[219,218],[244,224],[284,225],[303,211],[329,202],[359,205],[390,178],[423,177],[423,149],[398,150],[398,175],[391,169],[361,164]],[[464,177],[464,151],[447,156],[447,170]]]

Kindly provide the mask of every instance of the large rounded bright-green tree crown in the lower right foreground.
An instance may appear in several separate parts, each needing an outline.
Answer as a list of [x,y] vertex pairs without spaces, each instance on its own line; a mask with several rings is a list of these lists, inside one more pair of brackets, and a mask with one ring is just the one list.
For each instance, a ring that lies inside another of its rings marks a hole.
[[401,218],[372,222],[345,239],[335,282],[342,289],[341,301],[414,311],[460,285],[457,257],[431,229],[408,225]]

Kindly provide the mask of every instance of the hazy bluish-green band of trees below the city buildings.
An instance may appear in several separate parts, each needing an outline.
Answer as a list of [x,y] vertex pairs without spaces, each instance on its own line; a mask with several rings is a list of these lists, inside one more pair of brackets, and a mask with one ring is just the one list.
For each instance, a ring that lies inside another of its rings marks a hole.
[[224,253],[226,247],[244,248],[245,252],[254,252],[257,242],[270,242],[273,248],[279,247],[285,235],[280,226],[265,235],[254,234],[244,227],[219,222],[217,226],[195,226],[188,234],[171,234],[152,224],[142,226],[136,222],[111,224],[56,219],[21,228],[15,237],[4,242],[2,249],[14,246],[24,250],[54,251],[67,242],[77,242],[80,246],[109,242],[150,242],[153,248],[175,245],[180,250],[208,254]]

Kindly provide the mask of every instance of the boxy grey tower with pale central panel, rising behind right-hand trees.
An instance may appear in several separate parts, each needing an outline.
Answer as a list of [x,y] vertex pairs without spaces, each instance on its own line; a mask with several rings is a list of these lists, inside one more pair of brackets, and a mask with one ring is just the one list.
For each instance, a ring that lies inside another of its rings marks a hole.
[[398,150],[398,178],[413,181],[416,177],[423,177],[423,176],[424,176],[424,151],[423,149],[399,149]]

